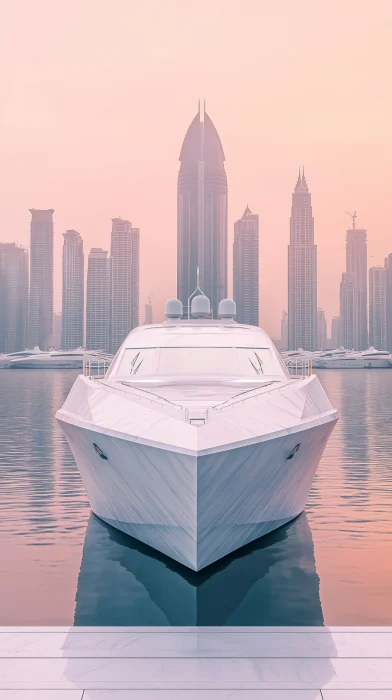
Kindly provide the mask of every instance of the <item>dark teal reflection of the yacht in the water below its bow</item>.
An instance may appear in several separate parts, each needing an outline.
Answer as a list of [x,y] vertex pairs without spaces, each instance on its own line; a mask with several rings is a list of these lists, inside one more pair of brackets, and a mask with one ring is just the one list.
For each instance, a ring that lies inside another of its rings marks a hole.
[[91,514],[75,625],[323,625],[305,513],[193,572]]

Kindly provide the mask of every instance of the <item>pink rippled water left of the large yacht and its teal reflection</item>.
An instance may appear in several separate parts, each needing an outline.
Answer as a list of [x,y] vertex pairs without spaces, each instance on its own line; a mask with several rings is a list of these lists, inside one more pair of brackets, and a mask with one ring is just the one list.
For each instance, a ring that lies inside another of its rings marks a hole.
[[90,508],[54,413],[77,372],[0,371],[0,624],[67,625]]

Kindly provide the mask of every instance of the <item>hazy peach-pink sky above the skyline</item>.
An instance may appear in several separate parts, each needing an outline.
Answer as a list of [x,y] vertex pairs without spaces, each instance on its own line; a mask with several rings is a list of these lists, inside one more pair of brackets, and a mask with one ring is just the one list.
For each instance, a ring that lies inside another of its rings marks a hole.
[[319,305],[338,312],[348,211],[369,264],[392,252],[391,0],[0,0],[0,240],[29,241],[29,207],[55,209],[85,254],[111,218],[141,229],[141,320],[176,293],[176,180],[205,98],[222,139],[233,223],[260,215],[260,320],[287,308],[291,194],[312,192]]

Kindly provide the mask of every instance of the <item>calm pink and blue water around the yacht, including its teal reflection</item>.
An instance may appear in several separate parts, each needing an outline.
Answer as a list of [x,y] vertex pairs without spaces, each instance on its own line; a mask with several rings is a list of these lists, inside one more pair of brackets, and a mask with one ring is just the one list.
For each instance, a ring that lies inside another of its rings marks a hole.
[[306,512],[199,574],[90,513],[54,420],[75,377],[0,372],[1,625],[392,625],[392,371],[319,373]]

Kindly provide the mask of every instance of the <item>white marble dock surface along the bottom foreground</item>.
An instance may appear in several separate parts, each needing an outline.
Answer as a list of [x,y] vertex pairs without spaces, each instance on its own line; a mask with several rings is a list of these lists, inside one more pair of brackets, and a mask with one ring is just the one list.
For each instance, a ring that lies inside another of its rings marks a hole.
[[0,627],[0,700],[392,700],[390,627]]

